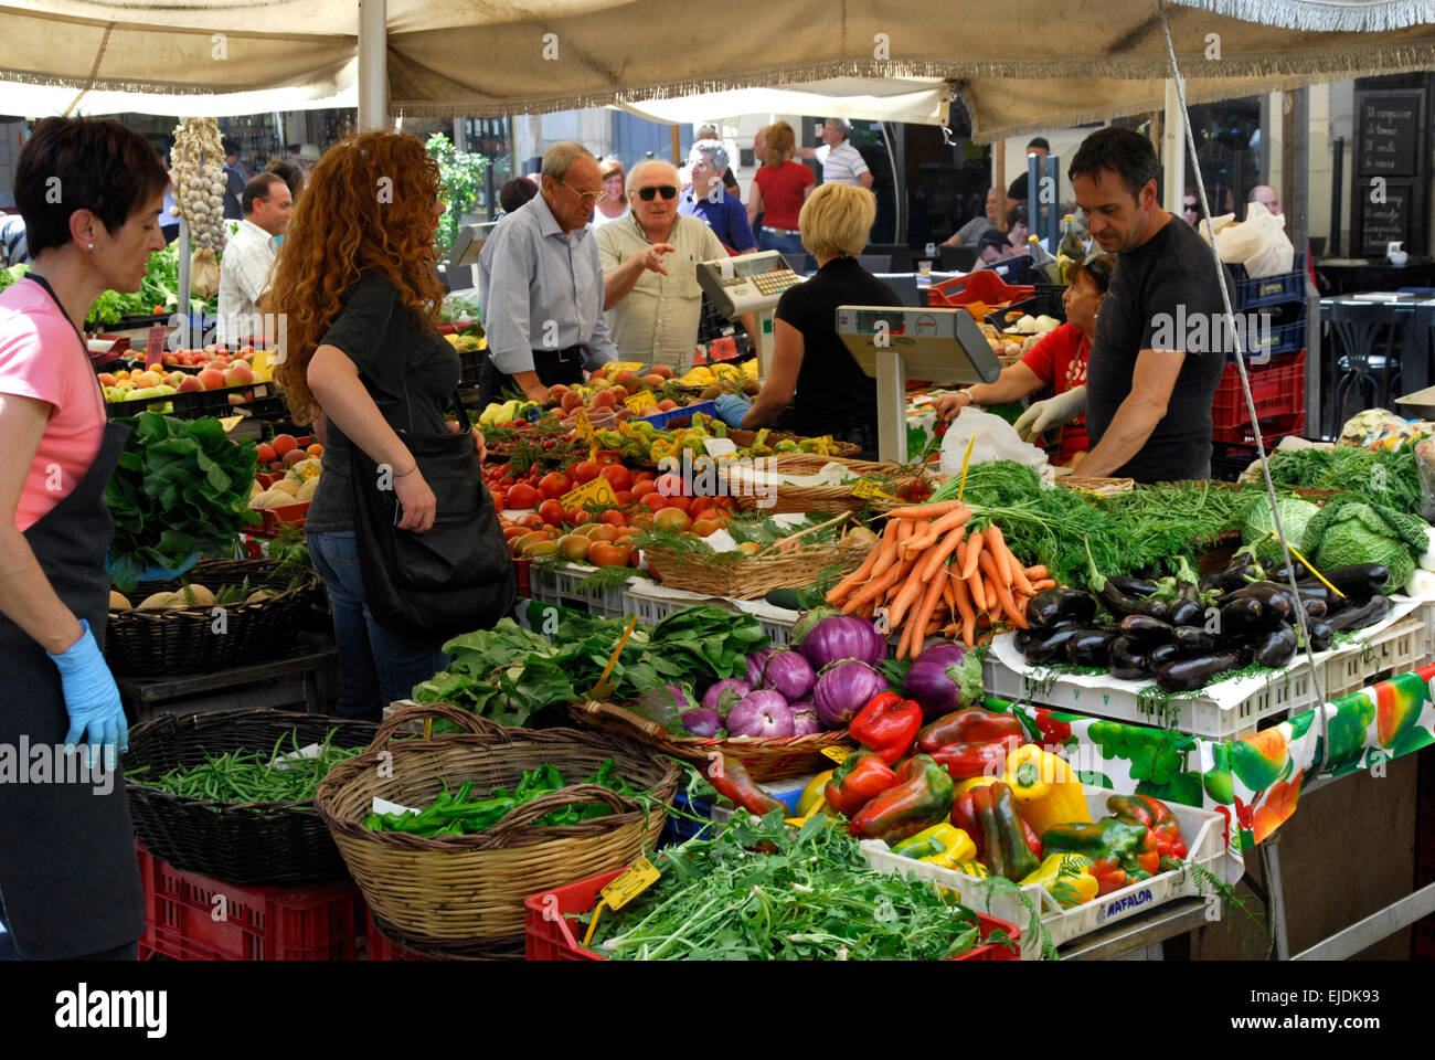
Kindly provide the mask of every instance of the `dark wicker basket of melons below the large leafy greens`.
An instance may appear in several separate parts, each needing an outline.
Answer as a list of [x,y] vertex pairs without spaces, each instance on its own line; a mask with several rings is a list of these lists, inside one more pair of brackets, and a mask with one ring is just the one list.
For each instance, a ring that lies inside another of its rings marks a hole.
[[[112,610],[105,629],[105,659],[121,675],[169,677],[228,669],[264,656],[288,655],[290,638],[319,592],[319,575],[276,560],[201,560],[182,579],[152,582],[151,593],[178,592],[187,582],[218,589],[243,585],[281,595],[224,606],[222,632],[212,608],[185,610]],[[298,572],[298,573],[297,573]],[[294,582],[298,585],[284,592]]]

